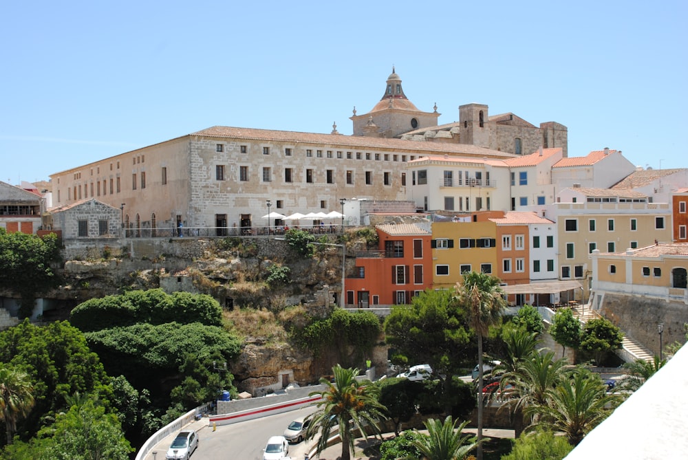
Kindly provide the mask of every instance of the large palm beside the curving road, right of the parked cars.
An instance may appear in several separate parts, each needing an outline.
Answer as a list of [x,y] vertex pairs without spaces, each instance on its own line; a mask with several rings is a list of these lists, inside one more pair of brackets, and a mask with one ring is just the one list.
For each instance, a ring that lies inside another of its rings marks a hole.
[[310,424],[306,430],[306,439],[320,434],[317,453],[327,448],[330,432],[337,428],[342,442],[341,460],[350,460],[354,451],[355,431],[367,436],[366,428],[371,428],[376,435],[380,434],[378,420],[384,419],[385,406],[378,402],[380,390],[370,380],[356,380],[359,369],[343,368],[339,364],[332,368],[334,382],[321,378],[325,385],[323,391],[313,391],[310,396],[321,396],[314,403],[318,410],[310,415]]

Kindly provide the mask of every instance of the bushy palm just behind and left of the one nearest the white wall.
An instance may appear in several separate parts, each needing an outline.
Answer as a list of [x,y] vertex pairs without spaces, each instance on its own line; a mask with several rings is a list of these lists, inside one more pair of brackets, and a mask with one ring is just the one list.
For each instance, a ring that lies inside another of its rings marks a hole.
[[[566,360],[554,360],[555,353],[533,353],[528,359],[517,362],[513,371],[508,371],[499,382],[499,394],[506,397],[505,408],[515,417],[517,432],[520,435],[523,411],[531,405],[546,405],[548,392],[566,376]],[[528,424],[537,424],[539,415],[535,414]]]

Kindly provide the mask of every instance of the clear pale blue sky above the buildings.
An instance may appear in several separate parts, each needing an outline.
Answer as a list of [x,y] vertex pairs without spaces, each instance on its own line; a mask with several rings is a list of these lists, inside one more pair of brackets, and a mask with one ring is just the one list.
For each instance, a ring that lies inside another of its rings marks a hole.
[[5,1],[0,180],[215,125],[352,133],[391,67],[439,123],[489,106],[688,167],[688,2]]

